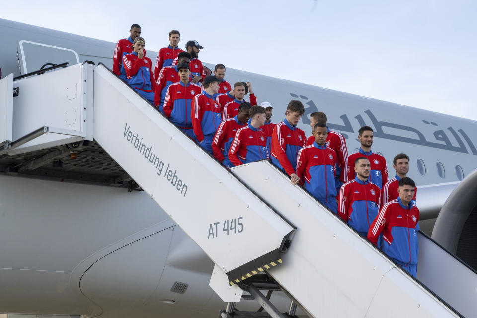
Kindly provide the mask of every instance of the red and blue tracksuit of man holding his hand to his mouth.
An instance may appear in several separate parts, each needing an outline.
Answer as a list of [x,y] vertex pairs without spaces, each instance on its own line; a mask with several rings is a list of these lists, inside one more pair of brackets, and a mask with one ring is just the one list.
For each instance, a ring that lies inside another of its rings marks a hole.
[[146,56],[139,59],[138,54],[133,52],[123,57],[123,65],[129,86],[135,88],[141,95],[153,102],[153,92],[156,88],[156,83],[153,78],[151,59]]

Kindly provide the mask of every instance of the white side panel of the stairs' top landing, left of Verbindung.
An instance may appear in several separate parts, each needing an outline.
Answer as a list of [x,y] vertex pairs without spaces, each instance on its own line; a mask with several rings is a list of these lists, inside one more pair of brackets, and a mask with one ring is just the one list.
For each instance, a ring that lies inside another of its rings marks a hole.
[[12,140],[43,126],[56,133],[47,133],[9,154],[92,139],[92,70],[92,65],[78,64],[13,83],[18,96],[13,99]]

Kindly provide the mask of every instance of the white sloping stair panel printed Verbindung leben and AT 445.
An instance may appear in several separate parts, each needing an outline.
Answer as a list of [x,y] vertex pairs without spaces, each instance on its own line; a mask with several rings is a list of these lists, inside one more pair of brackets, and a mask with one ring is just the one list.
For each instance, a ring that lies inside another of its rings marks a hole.
[[94,70],[94,139],[225,272],[293,231],[103,66]]

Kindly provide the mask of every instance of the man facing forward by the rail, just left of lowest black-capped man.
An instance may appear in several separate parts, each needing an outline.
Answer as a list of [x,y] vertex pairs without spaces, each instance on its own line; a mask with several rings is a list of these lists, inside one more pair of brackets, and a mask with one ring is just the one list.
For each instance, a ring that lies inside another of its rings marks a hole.
[[191,102],[196,95],[200,94],[200,87],[189,80],[189,63],[177,65],[177,70],[180,81],[171,84],[167,89],[164,101],[164,114],[170,118],[174,125],[195,140],[190,118]]

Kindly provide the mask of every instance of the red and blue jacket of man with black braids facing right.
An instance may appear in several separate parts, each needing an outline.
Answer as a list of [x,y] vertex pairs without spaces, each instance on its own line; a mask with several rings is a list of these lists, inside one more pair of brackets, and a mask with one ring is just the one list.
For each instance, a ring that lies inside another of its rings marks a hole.
[[217,160],[229,160],[229,149],[235,134],[240,128],[246,127],[246,125],[246,123],[242,124],[239,122],[237,116],[222,121],[212,142],[212,150]]

